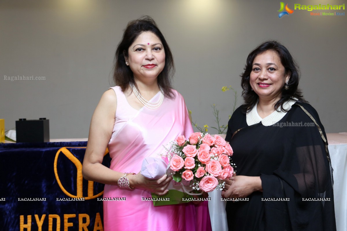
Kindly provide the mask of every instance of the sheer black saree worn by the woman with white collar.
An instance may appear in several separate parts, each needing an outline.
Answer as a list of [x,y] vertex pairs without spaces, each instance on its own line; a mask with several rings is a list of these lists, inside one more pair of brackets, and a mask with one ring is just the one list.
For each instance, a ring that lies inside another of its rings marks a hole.
[[226,140],[237,175],[260,176],[263,192],[227,203],[229,230],[336,230],[332,170],[317,112],[295,103],[273,123],[248,126],[241,107],[230,118]]

